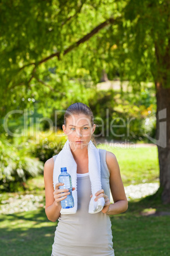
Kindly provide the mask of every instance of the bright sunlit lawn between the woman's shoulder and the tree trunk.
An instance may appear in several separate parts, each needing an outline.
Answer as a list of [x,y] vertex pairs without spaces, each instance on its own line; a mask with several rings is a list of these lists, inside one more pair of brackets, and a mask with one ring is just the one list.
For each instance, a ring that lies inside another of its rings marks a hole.
[[147,148],[113,148],[100,145],[115,154],[121,169],[122,181],[125,186],[143,182],[155,182],[159,179],[159,162],[156,146]]

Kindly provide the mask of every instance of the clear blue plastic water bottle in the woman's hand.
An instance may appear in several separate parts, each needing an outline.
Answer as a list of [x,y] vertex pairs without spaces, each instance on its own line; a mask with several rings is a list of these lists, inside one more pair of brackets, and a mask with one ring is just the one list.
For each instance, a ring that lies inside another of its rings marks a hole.
[[58,176],[58,181],[61,183],[64,183],[63,186],[60,186],[61,189],[69,189],[68,192],[70,192],[67,197],[61,201],[62,208],[67,209],[67,208],[72,208],[74,207],[74,198],[72,196],[72,178],[69,173],[67,173],[67,167],[62,167],[61,168],[61,173]]

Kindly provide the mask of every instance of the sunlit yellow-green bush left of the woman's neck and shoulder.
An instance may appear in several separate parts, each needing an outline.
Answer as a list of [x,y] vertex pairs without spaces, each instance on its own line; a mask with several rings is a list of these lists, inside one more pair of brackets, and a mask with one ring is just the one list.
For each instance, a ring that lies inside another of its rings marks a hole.
[[44,162],[62,150],[66,137],[61,131],[46,136],[13,137],[0,141],[0,190],[14,192],[25,189],[25,181],[43,173]]

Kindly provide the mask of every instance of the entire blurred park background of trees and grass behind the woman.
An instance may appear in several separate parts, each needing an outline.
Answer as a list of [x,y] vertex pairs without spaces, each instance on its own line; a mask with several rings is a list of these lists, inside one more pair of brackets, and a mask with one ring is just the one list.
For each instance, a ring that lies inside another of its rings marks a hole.
[[169,13],[168,0],[0,2],[1,255],[51,253],[44,162],[75,102],[121,169],[129,209],[110,217],[115,254],[169,255]]

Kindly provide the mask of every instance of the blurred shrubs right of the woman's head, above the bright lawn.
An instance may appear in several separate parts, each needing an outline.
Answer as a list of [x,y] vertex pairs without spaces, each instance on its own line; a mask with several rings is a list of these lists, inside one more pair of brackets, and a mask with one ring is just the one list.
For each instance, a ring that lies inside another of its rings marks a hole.
[[[95,136],[123,141],[148,141],[146,134],[155,138],[155,98],[150,88],[141,89],[134,96],[131,92],[101,90],[93,92],[89,106],[97,124]],[[130,108],[133,104],[133,108]],[[102,106],[102,107],[101,107]]]

